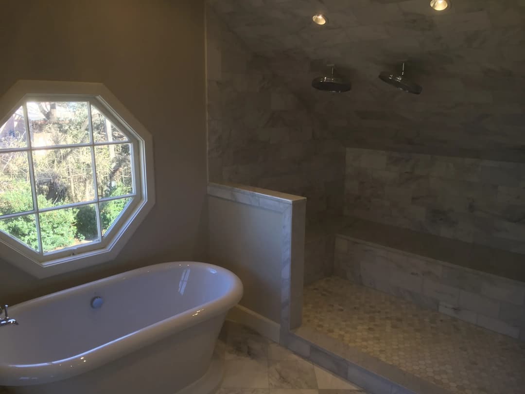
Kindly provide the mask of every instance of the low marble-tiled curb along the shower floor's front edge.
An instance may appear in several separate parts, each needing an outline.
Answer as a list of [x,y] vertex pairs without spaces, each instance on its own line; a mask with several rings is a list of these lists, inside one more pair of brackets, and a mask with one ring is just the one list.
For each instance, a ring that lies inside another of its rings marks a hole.
[[310,327],[281,332],[281,345],[370,394],[452,394]]

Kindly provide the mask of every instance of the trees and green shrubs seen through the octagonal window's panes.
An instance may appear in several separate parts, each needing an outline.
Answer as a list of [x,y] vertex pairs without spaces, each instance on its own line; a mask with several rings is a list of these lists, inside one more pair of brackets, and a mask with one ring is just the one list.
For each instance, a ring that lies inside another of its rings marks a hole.
[[[29,136],[33,151],[36,198],[38,208],[53,208],[71,203],[93,202],[95,188],[99,198],[131,194],[131,145],[109,120],[92,107],[95,148],[65,147],[89,142],[88,103],[28,103],[30,133],[4,133],[0,148],[24,148]],[[23,111],[18,111],[18,117]],[[17,112],[17,113],[18,113]],[[22,115],[20,115],[22,114]],[[23,118],[17,120],[20,128]],[[1,126],[1,125],[0,125]],[[0,131],[2,128],[0,127]],[[15,130],[16,131],[16,130]],[[107,145],[104,142],[121,142]],[[46,149],[54,147],[54,149]],[[95,157],[98,184],[92,165]],[[27,152],[0,151],[0,215],[33,210]],[[102,235],[117,219],[129,198],[100,202]],[[98,240],[97,215],[94,203],[74,208],[40,212],[40,234],[44,252]],[[34,250],[38,250],[35,214],[0,219],[0,231],[12,235]]]

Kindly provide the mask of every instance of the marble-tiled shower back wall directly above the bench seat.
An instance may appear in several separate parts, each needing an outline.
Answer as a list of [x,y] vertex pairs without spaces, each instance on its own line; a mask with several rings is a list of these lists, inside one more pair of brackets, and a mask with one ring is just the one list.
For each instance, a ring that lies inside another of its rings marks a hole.
[[525,254],[525,164],[347,148],[344,214]]

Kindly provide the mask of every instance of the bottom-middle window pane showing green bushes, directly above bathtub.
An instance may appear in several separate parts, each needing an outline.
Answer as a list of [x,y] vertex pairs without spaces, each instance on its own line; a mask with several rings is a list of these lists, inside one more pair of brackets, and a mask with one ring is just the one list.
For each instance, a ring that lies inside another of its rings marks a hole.
[[44,253],[99,241],[94,204],[40,213]]

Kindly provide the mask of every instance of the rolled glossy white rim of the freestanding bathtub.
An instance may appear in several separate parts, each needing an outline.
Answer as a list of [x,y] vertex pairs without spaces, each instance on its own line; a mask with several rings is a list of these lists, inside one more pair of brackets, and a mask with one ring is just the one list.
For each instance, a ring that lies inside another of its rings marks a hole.
[[[168,270],[172,267],[182,265],[193,265],[203,268],[215,269],[217,272],[220,272],[222,275],[225,275],[229,278],[230,286],[226,293],[219,298],[185,310],[180,314],[170,316],[149,326],[142,327],[139,330],[114,339],[107,344],[89,349],[88,351],[81,354],[73,355],[62,360],[48,361],[40,364],[9,365],[4,362],[3,364],[0,364],[0,386],[42,385],[45,383],[52,383],[81,375],[85,372],[108,364],[119,357],[128,355],[170,335],[174,335],[180,331],[183,331],[184,329],[205,322],[206,320],[213,319],[221,314],[226,315],[227,311],[234,307],[242,297],[243,284],[237,275],[228,269],[208,263],[180,261],[149,265],[98,279],[97,281],[70,287],[59,292],[51,293],[14,305],[12,310],[14,313],[16,313],[16,310],[19,310],[20,308],[27,308],[29,306],[31,308],[35,308],[38,307],[39,304],[46,303],[50,298],[67,297],[68,294],[74,293],[79,289],[85,289],[95,284],[102,284],[104,282],[117,281],[119,278],[124,276],[135,277],[144,272],[147,273],[151,271],[151,269],[155,269],[155,271],[161,271],[163,269]],[[89,361],[88,364],[86,364],[86,361]]]

